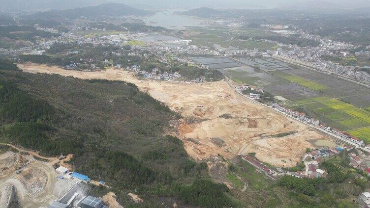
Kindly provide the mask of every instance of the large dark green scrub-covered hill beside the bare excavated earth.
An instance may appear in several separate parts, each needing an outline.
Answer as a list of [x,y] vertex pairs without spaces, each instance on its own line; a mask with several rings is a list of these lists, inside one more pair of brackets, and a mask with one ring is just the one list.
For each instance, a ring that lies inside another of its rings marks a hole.
[[[0,142],[44,156],[72,153],[77,172],[119,190],[137,189],[141,207],[169,207],[175,199],[185,208],[235,207],[229,189],[209,179],[207,165],[164,134],[179,115],[135,85],[29,74],[2,62]],[[127,195],[115,193],[130,206]]]

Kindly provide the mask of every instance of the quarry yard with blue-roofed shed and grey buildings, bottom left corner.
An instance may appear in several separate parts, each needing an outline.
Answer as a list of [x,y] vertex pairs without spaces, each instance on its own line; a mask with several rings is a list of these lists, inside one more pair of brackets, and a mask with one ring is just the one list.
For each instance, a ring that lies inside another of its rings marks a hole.
[[[71,156],[41,158],[35,152],[6,146],[11,149],[0,155],[1,208],[109,208],[108,203],[121,208],[114,193],[103,196],[104,200],[89,196],[87,183],[74,179],[69,171],[58,171],[68,170],[60,164]],[[60,166],[57,171],[56,166]]]

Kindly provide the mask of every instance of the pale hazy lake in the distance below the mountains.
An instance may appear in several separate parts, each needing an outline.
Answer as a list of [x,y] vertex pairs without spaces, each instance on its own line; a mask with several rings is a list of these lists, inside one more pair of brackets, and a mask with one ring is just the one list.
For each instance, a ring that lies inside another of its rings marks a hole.
[[167,29],[186,29],[189,26],[206,26],[203,20],[197,17],[173,14],[179,10],[159,11],[153,16],[141,18],[149,26],[161,26]]

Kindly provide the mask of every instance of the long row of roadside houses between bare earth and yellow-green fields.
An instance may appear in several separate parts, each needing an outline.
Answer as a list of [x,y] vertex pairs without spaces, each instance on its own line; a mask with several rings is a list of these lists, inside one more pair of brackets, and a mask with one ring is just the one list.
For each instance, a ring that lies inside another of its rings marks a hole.
[[[352,143],[355,143],[355,144],[359,145],[360,147],[365,146],[365,143],[364,143],[363,140],[361,140],[361,139],[359,139],[359,138],[357,138],[355,136],[352,136],[352,135],[350,135],[349,133],[347,133],[345,131],[340,131],[340,130],[337,130],[337,129],[332,129],[329,126],[320,123],[319,120],[316,120],[316,119],[313,119],[313,118],[308,118],[305,113],[297,112],[297,111],[291,110],[289,108],[282,107],[282,106],[280,106],[280,105],[278,105],[276,103],[272,104],[272,107],[273,108],[276,108],[279,111],[284,112],[284,113],[286,113],[286,114],[288,114],[288,115],[290,115],[290,116],[292,116],[292,117],[294,117],[296,119],[299,119],[299,120],[301,120],[303,122],[306,122],[308,124],[312,124],[314,126],[317,126],[317,127],[321,128],[322,130],[325,130],[327,132],[330,132],[332,134],[335,134],[335,135],[341,137],[342,139],[345,139],[345,140],[348,140],[348,141],[350,141]],[[370,146],[369,146],[369,149],[370,149]]]

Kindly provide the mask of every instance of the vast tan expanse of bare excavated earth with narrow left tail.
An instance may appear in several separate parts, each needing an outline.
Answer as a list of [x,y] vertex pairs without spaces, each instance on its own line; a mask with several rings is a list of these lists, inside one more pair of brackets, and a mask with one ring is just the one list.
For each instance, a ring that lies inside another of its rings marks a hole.
[[[138,79],[132,73],[113,68],[80,72],[31,63],[18,66],[30,73],[136,84],[184,117],[178,121],[176,134],[184,141],[187,153],[196,159],[217,154],[232,158],[241,153],[256,153],[258,159],[272,165],[295,166],[306,148],[313,148],[309,141],[327,139],[306,125],[243,98],[226,81],[179,83]],[[296,133],[278,138],[271,136],[289,131]]]

